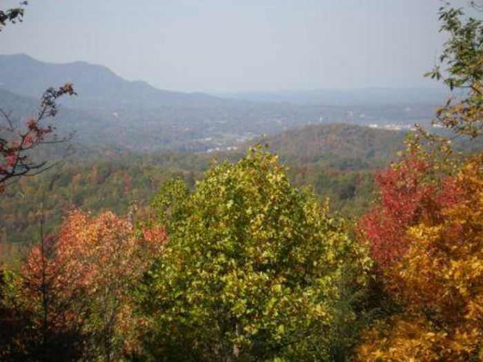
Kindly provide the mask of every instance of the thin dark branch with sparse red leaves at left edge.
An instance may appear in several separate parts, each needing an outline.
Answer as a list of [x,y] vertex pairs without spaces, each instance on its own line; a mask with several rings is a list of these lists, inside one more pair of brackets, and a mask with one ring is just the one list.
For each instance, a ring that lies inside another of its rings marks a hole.
[[72,138],[58,138],[55,128],[46,124],[47,119],[57,115],[59,107],[57,100],[64,95],[75,95],[72,84],[48,88],[43,93],[37,114],[31,117],[24,127],[17,126],[12,121],[11,112],[0,108],[0,192],[5,190],[8,182],[18,177],[32,176],[52,167],[48,161],[39,161],[32,157],[32,151],[46,144],[61,143]]

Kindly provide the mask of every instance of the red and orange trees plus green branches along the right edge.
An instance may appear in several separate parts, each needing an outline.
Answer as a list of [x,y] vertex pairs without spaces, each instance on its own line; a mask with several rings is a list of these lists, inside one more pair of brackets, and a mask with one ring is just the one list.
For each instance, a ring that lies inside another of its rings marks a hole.
[[[450,32],[431,77],[465,90],[436,113],[455,137],[482,134],[483,23],[441,8]],[[463,159],[451,140],[421,132],[380,173],[380,200],[359,222],[385,292],[397,308],[364,334],[357,361],[483,360],[483,154]]]

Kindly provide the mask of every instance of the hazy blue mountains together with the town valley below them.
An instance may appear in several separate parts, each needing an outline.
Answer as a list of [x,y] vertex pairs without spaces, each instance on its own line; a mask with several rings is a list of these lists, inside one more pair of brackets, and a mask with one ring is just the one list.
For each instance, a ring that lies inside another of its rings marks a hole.
[[[46,88],[72,82],[55,125],[77,142],[117,150],[203,152],[233,149],[261,134],[328,123],[428,123],[440,90],[348,90],[228,94],[159,90],[127,81],[105,66],[45,63],[26,54],[0,55],[0,107],[28,117]],[[240,99],[236,99],[238,97]],[[287,140],[289,141],[289,140]]]

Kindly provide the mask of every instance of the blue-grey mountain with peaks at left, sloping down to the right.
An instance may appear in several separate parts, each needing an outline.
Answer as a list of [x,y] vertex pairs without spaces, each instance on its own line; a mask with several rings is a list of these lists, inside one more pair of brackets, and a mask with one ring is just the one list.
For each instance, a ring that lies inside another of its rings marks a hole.
[[83,61],[44,63],[26,54],[0,55],[0,87],[39,97],[46,88],[75,84],[81,95],[74,108],[219,107],[224,99],[204,93],[159,90],[144,81],[126,81],[106,68]]

